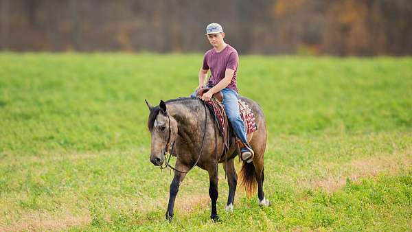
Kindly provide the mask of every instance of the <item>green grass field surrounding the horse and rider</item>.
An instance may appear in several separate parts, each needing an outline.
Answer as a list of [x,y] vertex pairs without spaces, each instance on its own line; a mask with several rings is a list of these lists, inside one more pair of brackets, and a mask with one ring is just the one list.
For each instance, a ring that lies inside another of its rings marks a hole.
[[[220,167],[183,181],[150,163],[148,108],[197,86],[201,54],[0,54],[0,231],[411,231],[412,58],[241,56],[268,126],[266,198]],[[236,164],[240,167],[239,164]]]

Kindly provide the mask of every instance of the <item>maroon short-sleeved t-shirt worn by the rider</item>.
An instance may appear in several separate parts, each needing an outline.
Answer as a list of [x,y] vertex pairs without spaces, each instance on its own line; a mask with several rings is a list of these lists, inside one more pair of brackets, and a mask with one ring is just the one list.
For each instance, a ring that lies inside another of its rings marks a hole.
[[203,58],[203,69],[210,69],[211,76],[209,80],[213,82],[213,85],[218,84],[220,80],[225,78],[226,69],[233,69],[233,78],[230,84],[227,86],[229,89],[233,89],[238,92],[238,86],[236,86],[236,72],[238,71],[239,56],[238,51],[227,45],[222,51],[217,52],[214,48],[206,51]]

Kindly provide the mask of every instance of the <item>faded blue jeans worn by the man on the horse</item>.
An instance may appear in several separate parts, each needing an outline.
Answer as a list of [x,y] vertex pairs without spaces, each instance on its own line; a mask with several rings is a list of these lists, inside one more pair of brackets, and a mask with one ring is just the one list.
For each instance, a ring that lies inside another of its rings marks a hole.
[[[236,136],[242,141],[242,143],[249,146],[246,132],[244,130],[243,120],[242,117],[240,117],[238,93],[229,88],[222,89],[220,92],[223,94],[223,106],[225,106],[227,119],[229,119]],[[190,97],[196,97],[196,92],[192,93]]]

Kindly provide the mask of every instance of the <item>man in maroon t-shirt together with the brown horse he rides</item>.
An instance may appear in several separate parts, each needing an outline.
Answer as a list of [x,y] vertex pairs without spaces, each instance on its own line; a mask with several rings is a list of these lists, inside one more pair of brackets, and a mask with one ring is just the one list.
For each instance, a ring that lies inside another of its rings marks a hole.
[[[238,146],[233,136],[229,138],[229,143],[225,142],[225,137],[216,130],[218,126],[215,122],[220,119],[216,119],[214,113],[206,107],[207,104],[216,103],[215,100],[209,101],[212,95],[219,91],[223,95],[222,104],[225,106],[233,131],[244,145],[240,152],[243,161],[239,172],[240,183],[248,196],[252,196],[258,187],[258,204],[269,205],[269,200],[265,198],[263,191],[264,152],[267,140],[263,110],[253,100],[238,95],[236,87],[238,52],[224,42],[225,33],[222,27],[217,23],[211,23],[207,26],[206,32],[213,48],[205,54],[203,67],[198,75],[199,86],[195,93],[192,93],[191,97],[180,97],[166,102],[161,100],[159,106],[152,106],[146,101],[150,111],[148,117],[151,137],[150,161],[162,169],[170,167],[174,170],[173,181],[169,188],[168,209],[165,213],[168,220],[172,220],[174,215],[174,201],[179,186],[186,174],[194,167],[200,167],[209,173],[210,218],[212,220],[218,218],[218,163],[222,163],[229,185],[225,209],[233,211],[238,185],[238,175],[233,160],[239,154]],[[211,71],[209,82],[214,86],[205,89],[203,85],[209,69]],[[196,92],[201,100],[196,97]],[[247,124],[246,128],[242,118]],[[174,167],[169,164],[172,154],[176,156]]]

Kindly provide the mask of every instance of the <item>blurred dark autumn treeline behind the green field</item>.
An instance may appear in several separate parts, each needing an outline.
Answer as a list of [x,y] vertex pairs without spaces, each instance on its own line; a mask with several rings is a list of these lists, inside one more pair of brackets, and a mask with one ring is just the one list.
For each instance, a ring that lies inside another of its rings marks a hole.
[[412,54],[411,0],[0,0],[0,49],[204,51],[211,22],[242,54]]

